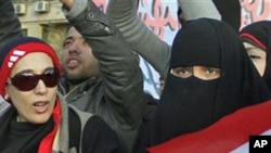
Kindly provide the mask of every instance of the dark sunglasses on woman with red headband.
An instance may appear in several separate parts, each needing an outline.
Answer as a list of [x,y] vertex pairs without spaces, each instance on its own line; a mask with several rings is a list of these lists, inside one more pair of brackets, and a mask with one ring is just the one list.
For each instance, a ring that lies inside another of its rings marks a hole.
[[21,91],[29,91],[38,85],[40,79],[47,87],[55,87],[59,84],[60,72],[56,68],[51,68],[40,75],[18,73],[8,82]]

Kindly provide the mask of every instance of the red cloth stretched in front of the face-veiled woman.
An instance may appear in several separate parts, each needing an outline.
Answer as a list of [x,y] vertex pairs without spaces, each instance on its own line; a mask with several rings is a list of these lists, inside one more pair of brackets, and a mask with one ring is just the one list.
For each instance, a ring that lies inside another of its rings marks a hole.
[[271,101],[230,114],[212,126],[149,148],[150,153],[228,153],[271,128]]

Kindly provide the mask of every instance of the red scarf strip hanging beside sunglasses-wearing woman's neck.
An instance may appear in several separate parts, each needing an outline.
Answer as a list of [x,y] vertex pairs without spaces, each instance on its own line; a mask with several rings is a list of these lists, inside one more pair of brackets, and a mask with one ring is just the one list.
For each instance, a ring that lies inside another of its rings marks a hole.
[[57,99],[56,105],[53,110],[53,120],[54,120],[54,128],[40,142],[38,153],[52,153],[54,137],[56,135],[56,131],[57,131],[57,129],[60,127],[60,123],[61,123],[61,103],[60,103],[59,99]]

